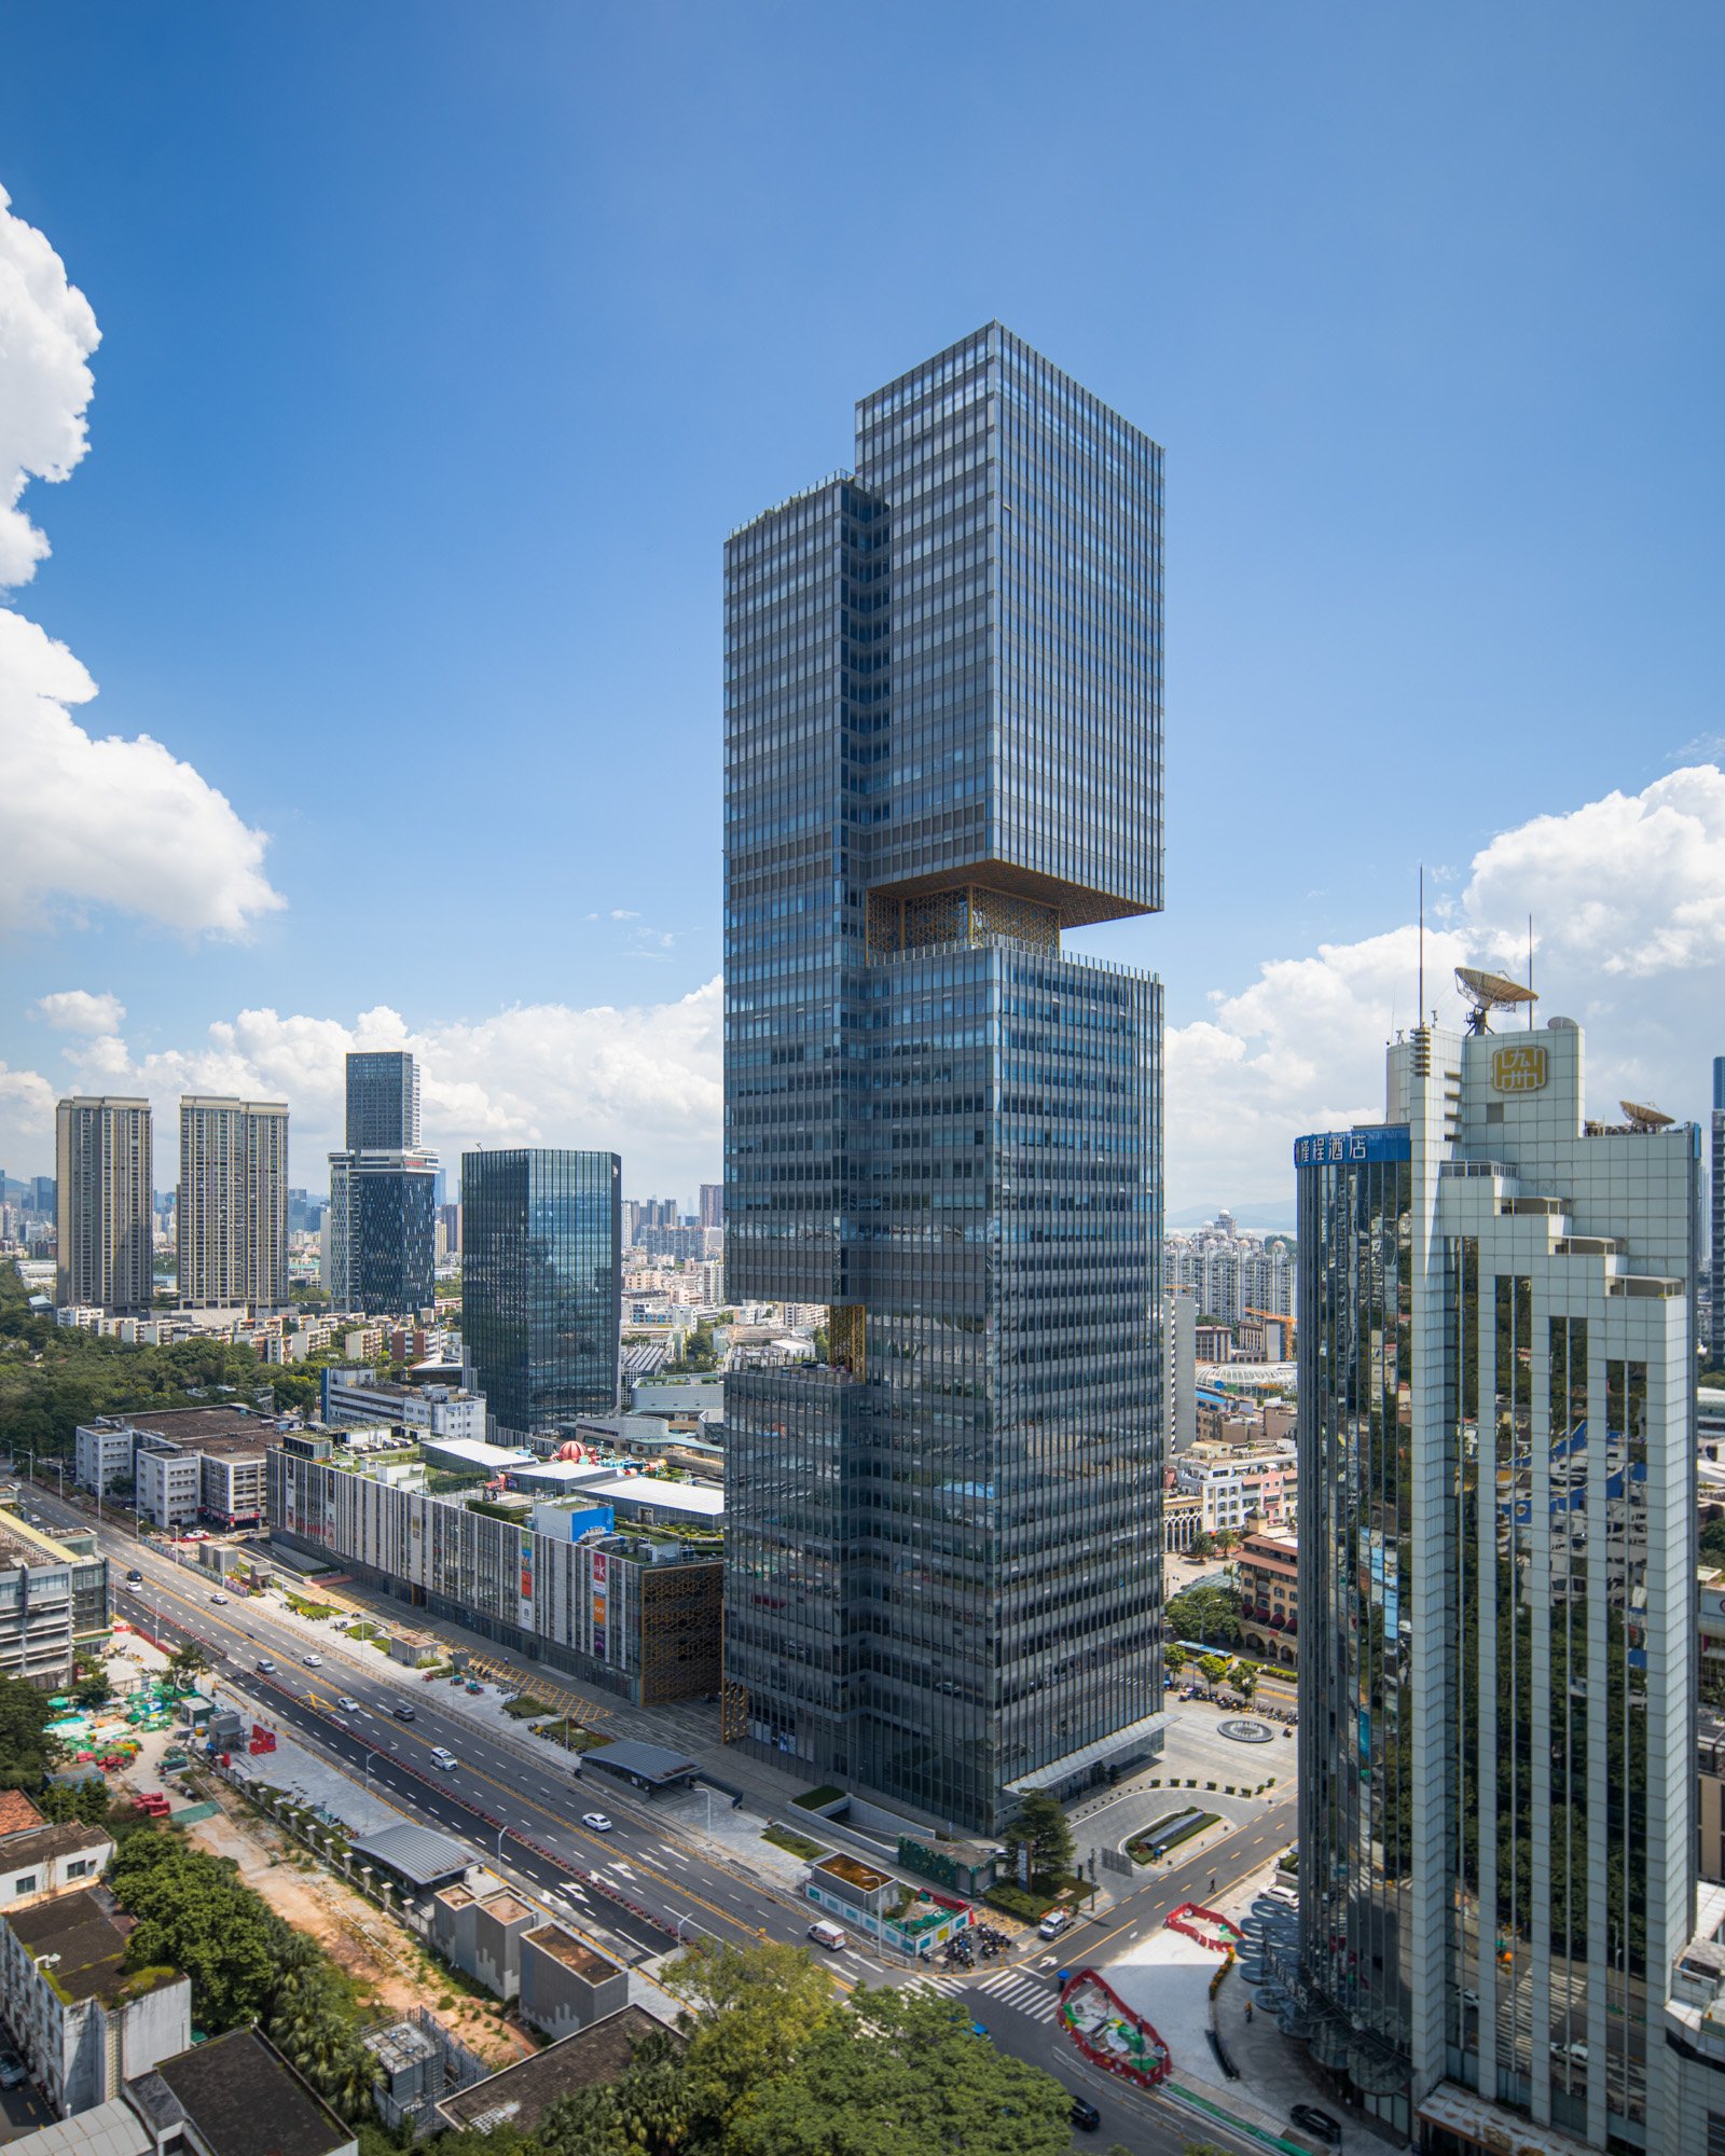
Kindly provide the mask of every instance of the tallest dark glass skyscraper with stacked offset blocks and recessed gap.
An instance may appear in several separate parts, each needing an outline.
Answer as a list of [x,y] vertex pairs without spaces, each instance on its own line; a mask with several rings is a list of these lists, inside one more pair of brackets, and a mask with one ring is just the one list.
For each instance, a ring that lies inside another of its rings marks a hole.
[[727,1731],[990,1828],[1154,1746],[1162,453],[998,323],[727,548]]

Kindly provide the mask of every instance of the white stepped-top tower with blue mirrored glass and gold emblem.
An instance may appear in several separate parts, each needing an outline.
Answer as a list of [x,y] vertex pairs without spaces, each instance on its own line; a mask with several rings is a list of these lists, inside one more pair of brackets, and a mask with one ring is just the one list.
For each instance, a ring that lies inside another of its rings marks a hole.
[[1701,2150],[1660,2027],[1697,1915],[1699,1130],[1585,1121],[1570,1020],[1421,1026],[1386,1121],[1296,1171],[1283,2027],[1443,2156],[1507,2147],[1496,2106]]

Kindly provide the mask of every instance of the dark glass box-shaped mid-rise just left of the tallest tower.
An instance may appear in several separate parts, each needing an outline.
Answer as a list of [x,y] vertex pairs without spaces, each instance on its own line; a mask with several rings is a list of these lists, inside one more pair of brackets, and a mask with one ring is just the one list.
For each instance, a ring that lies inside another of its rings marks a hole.
[[617,1153],[461,1153],[461,1341],[498,1436],[615,1412],[621,1332]]

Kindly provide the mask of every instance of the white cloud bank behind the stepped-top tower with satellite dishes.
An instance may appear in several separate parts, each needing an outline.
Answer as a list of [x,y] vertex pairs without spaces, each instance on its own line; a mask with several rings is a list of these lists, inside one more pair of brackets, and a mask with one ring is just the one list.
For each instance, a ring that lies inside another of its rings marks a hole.
[[[1462,1022],[1453,968],[1527,968],[1537,1018],[1587,1026],[1587,1093],[1675,1117],[1710,1108],[1725,1052],[1725,772],[1671,772],[1499,832],[1425,931],[1425,1007]],[[1414,1024],[1419,931],[1386,927],[1309,957],[1268,959],[1167,1039],[1169,1210],[1285,1199],[1292,1141],[1384,1112],[1384,1044]]]

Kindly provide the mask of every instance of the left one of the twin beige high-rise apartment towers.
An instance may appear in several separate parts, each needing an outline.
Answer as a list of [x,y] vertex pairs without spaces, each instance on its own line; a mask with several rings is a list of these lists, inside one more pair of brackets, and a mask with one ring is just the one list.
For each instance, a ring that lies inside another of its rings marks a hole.
[[151,1307],[153,1153],[147,1100],[75,1095],[54,1110],[56,1300],[114,1315]]

